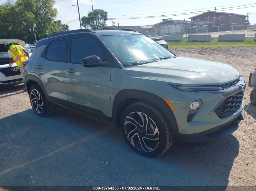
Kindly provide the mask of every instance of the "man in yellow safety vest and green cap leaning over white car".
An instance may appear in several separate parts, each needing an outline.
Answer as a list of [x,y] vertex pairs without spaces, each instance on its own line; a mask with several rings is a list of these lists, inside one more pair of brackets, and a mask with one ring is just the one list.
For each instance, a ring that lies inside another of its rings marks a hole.
[[13,62],[20,68],[22,79],[24,81],[23,73],[23,64],[24,60],[29,58],[28,52],[20,45],[14,45],[12,43],[6,42],[5,47],[8,49],[8,54],[10,58],[10,65],[13,65]]

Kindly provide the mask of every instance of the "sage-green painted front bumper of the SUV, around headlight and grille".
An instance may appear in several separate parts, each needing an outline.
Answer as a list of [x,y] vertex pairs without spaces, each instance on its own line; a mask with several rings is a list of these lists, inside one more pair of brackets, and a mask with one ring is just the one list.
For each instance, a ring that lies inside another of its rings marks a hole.
[[[243,110],[243,100],[241,101],[240,107],[227,116],[220,118],[215,113],[215,110],[225,99],[243,91],[244,88],[245,82],[242,77],[241,80],[232,87],[218,91],[181,91],[171,85],[162,88],[158,93],[162,98],[167,99],[174,108],[173,114],[177,124],[175,128],[172,128],[174,129],[174,139],[177,141],[182,140],[185,135],[190,136],[193,134],[201,136],[208,135],[214,133],[212,129],[240,119]],[[192,121],[187,121],[190,104],[195,100],[202,100],[203,104]],[[166,115],[168,116],[169,114]],[[205,132],[208,131],[211,131],[211,133],[205,134]]]

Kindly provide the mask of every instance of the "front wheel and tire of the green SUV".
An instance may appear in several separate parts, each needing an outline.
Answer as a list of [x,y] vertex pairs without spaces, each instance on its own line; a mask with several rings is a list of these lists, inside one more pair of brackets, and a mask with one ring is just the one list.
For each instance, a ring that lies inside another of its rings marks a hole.
[[157,107],[145,101],[134,103],[124,110],[121,130],[128,145],[146,157],[163,154],[173,143],[165,117]]

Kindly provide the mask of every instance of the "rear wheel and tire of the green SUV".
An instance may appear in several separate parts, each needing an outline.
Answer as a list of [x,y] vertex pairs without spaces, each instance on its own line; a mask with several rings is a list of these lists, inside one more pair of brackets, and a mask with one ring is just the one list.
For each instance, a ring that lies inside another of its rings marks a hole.
[[46,117],[53,113],[54,108],[46,100],[42,88],[34,84],[29,89],[29,99],[34,112],[40,117]]

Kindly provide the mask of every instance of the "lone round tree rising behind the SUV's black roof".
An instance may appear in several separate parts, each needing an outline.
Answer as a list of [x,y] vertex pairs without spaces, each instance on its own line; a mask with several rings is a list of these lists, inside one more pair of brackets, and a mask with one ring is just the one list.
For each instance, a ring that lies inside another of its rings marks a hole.
[[87,17],[81,18],[81,25],[85,28],[90,28],[92,30],[97,30],[101,27],[106,26],[106,21],[108,20],[108,12],[103,9],[94,9],[93,12],[90,11]]

